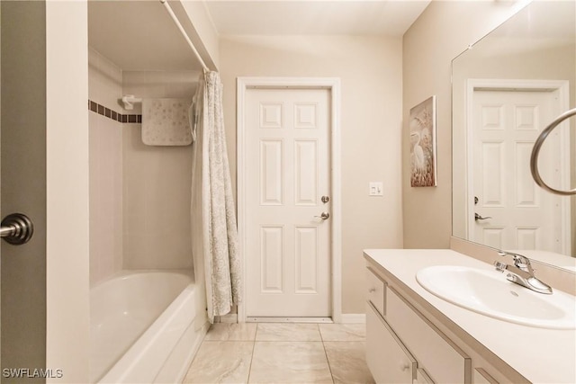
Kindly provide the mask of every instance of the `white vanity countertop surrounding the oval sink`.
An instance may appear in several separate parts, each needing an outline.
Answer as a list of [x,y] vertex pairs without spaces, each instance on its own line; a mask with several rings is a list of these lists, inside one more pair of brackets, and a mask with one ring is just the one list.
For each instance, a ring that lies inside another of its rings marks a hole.
[[405,285],[401,288],[418,294],[527,380],[576,383],[575,330],[522,326],[484,316],[438,298],[416,280],[416,272],[432,265],[493,270],[491,264],[450,249],[367,249],[365,257],[395,276]]

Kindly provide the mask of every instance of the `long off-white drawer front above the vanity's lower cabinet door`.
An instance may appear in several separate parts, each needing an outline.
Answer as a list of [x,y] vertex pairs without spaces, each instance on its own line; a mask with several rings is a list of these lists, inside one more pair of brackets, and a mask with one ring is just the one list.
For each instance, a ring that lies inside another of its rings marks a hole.
[[472,382],[472,360],[390,286],[386,288],[386,321],[438,383]]

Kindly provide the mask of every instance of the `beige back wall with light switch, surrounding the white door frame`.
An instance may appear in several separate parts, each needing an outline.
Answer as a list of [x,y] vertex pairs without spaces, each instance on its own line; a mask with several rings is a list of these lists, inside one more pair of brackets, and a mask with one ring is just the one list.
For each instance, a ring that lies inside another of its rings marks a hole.
[[[364,313],[365,248],[402,247],[401,39],[360,36],[227,37],[220,76],[236,185],[238,76],[341,79],[342,312]],[[383,182],[383,197],[368,183]]]

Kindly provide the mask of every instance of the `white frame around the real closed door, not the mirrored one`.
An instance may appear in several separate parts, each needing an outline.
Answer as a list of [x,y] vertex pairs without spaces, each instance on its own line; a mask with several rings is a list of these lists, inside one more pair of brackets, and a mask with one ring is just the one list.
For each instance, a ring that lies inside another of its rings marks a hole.
[[[338,77],[238,77],[237,81],[237,183],[238,246],[242,255],[242,274],[246,281],[246,126],[245,100],[250,88],[328,89],[330,107],[330,251],[332,320],[342,321],[342,207],[340,194],[340,79]],[[246,284],[244,302],[238,305],[238,322],[246,321]]]

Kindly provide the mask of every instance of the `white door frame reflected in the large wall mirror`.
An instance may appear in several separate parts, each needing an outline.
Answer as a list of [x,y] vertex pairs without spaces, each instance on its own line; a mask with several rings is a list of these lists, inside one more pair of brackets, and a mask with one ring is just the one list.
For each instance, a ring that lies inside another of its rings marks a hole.
[[[469,78],[466,80],[466,209],[464,214],[466,218],[466,235],[468,238],[473,238],[474,230],[474,196],[473,191],[473,97],[474,91],[488,90],[488,91],[539,91],[539,92],[558,92],[558,103],[556,104],[560,111],[559,114],[568,111],[570,108],[569,92],[570,83],[568,80],[541,80],[541,79],[482,79],[482,78]],[[544,129],[545,127],[543,127]],[[566,130],[560,133],[561,135],[561,158],[566,158],[570,154],[570,140],[567,138]],[[527,165],[529,166],[529,165]],[[570,187],[570,167],[561,162],[561,188],[567,189]],[[570,201],[563,199],[562,201],[562,237],[563,244],[562,250],[564,255],[571,255],[568,253],[571,248],[571,224],[570,224]]]

